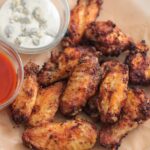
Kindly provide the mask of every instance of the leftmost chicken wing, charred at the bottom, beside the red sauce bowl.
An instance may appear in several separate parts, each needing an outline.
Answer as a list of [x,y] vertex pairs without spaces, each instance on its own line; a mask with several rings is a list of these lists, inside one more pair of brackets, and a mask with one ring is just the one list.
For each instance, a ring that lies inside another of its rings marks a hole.
[[24,67],[25,78],[19,95],[11,105],[11,113],[16,123],[28,121],[38,93],[37,73],[39,66],[34,63],[27,63]]

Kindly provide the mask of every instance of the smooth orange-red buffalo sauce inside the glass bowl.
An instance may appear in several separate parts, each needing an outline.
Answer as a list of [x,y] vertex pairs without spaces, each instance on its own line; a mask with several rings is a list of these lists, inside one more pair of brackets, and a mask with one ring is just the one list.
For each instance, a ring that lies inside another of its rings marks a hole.
[[15,91],[17,74],[9,58],[0,53],[0,104],[7,101]]

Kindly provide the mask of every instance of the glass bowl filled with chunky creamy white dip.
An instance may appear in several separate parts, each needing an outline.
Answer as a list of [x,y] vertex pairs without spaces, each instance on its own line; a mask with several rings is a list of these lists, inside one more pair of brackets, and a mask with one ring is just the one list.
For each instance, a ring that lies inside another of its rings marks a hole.
[[42,53],[57,46],[67,31],[67,0],[2,0],[0,36],[18,52]]

